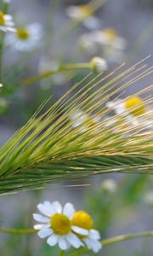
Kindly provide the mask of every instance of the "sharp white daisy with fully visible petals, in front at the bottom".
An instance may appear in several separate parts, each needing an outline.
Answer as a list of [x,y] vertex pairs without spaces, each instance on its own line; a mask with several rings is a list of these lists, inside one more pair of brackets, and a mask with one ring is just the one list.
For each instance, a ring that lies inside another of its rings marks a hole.
[[39,230],[37,235],[41,238],[48,237],[48,245],[59,244],[61,250],[67,250],[70,246],[78,248],[83,246],[82,241],[74,234],[73,230],[81,235],[87,235],[87,230],[77,228],[71,224],[75,209],[71,203],[66,203],[61,207],[58,201],[50,203],[44,201],[37,205],[42,214],[33,214],[33,218],[40,224],[34,225],[34,229]]

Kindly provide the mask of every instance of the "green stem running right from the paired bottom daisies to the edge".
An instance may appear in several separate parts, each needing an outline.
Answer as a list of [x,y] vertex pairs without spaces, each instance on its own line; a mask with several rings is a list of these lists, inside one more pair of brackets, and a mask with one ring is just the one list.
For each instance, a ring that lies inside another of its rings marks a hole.
[[126,234],[122,236],[114,236],[109,239],[105,239],[101,241],[103,246],[110,245],[112,243],[125,241],[125,240],[132,240],[132,239],[138,239],[138,238],[144,238],[144,237],[150,237],[153,236],[153,231],[143,232],[143,233],[136,233],[136,234]]

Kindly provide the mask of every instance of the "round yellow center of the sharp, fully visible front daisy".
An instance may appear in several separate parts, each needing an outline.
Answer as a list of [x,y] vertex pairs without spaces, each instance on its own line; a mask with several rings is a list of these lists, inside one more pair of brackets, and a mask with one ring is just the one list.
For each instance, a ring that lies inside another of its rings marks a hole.
[[50,224],[55,234],[60,236],[67,235],[71,232],[71,221],[63,213],[56,213],[50,218]]

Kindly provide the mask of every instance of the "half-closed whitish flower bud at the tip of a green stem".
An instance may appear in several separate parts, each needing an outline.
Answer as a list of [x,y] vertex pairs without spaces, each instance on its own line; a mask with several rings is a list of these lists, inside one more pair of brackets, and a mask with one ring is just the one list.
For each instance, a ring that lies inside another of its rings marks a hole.
[[105,59],[94,57],[90,61],[90,68],[94,71],[94,73],[102,73],[107,70],[108,66]]

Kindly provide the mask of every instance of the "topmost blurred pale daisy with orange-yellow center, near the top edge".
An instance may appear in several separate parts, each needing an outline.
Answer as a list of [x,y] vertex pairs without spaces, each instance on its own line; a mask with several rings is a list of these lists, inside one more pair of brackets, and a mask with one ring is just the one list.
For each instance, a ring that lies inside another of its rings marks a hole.
[[66,9],[66,15],[72,20],[81,20],[88,29],[98,29],[100,20],[93,13],[94,11],[89,4],[71,5]]

